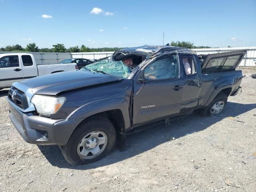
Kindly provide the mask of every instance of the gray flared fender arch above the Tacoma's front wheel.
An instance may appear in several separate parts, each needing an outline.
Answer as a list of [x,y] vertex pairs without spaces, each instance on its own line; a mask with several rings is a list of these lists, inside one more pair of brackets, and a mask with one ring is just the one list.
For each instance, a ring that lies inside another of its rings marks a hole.
[[74,110],[67,119],[85,119],[94,114],[115,109],[121,110],[124,118],[125,129],[130,128],[129,104],[124,98],[108,98],[84,104]]

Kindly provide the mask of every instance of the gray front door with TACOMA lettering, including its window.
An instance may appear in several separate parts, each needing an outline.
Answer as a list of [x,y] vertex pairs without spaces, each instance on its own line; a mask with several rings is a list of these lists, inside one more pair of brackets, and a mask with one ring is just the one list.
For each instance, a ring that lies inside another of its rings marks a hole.
[[144,67],[134,79],[133,126],[177,116],[185,84],[177,54],[160,56]]

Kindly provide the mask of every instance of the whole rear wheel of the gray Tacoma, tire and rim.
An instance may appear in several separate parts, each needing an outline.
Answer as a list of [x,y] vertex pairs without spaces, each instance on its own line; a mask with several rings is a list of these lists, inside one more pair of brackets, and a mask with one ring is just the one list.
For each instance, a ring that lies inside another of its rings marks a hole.
[[216,116],[222,112],[228,97],[223,92],[220,92],[214,100],[204,109],[201,110],[202,116]]

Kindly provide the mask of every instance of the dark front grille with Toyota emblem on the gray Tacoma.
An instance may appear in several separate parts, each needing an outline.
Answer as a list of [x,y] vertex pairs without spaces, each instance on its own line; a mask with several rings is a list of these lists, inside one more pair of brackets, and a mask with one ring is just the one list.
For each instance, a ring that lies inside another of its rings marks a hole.
[[[12,93],[16,92],[16,96],[14,97],[14,99],[12,98]],[[26,98],[26,95],[24,92],[18,90],[15,87],[11,87],[9,92],[8,92],[8,98],[14,103],[16,104],[16,106],[22,108],[22,109],[26,109],[28,108],[28,101]]]

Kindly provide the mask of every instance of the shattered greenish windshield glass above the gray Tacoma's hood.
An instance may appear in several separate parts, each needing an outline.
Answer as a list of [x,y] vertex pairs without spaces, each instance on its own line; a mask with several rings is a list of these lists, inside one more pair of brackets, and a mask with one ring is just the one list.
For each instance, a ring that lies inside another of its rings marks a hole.
[[114,61],[111,56],[98,62],[86,65],[86,67],[83,67],[80,70],[96,71],[103,74],[128,78],[133,69],[133,67],[126,66],[122,61]]

